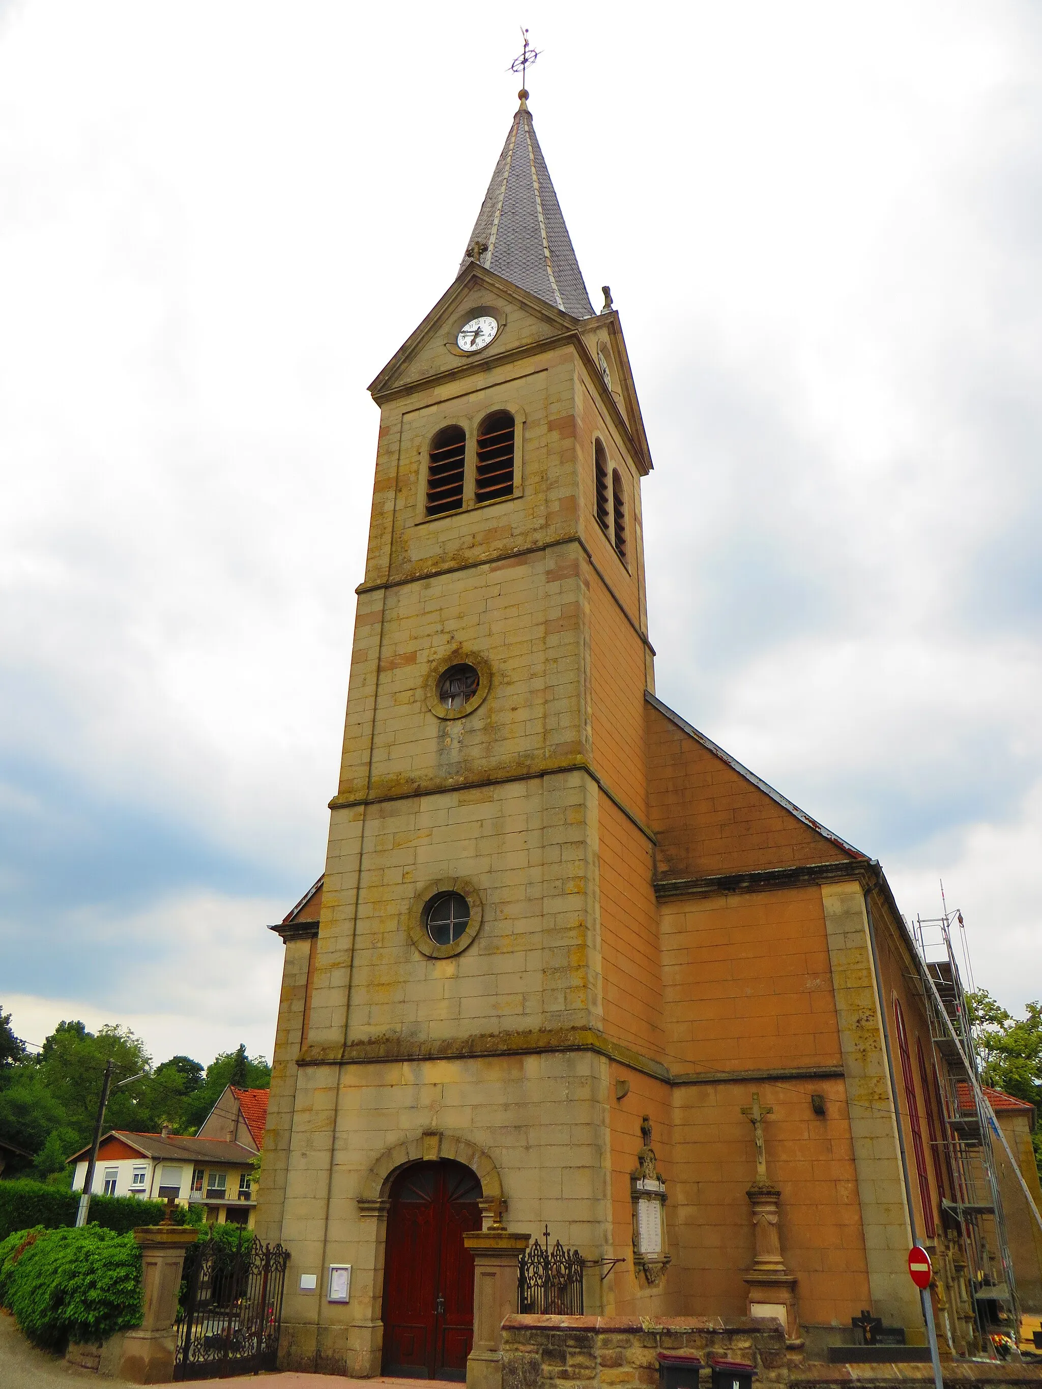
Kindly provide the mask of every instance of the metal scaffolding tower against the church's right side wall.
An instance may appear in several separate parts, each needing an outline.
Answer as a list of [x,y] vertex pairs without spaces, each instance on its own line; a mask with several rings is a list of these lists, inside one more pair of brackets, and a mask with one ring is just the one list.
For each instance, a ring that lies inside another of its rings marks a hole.
[[966,976],[973,988],[963,914],[949,911],[945,904],[941,917],[916,917],[909,925],[921,963],[913,982],[923,999],[932,1042],[939,1122],[929,1143],[938,1186],[942,1174],[948,1178],[946,1192],[939,1193],[942,1224],[946,1236],[961,1249],[973,1321],[984,1349],[995,1332],[1016,1338],[1020,1324],[992,1140],[1007,1145],[981,1086],[963,974],[952,945],[952,928],[957,925]]

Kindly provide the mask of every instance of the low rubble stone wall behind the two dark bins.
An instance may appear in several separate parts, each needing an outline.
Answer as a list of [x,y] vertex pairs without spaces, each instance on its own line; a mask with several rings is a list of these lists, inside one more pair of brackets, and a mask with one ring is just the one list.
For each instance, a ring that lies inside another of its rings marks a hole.
[[803,1364],[802,1343],[786,1346],[781,1322],[752,1317],[507,1317],[503,1389],[568,1389],[659,1383],[660,1350],[690,1350],[743,1360],[757,1386],[788,1389],[789,1360]]

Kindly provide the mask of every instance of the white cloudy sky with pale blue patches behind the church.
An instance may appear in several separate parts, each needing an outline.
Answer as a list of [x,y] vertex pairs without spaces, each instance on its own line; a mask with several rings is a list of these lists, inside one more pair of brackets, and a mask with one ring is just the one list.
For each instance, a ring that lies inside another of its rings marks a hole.
[[[639,15],[639,18],[636,18]],[[1042,7],[0,0],[0,1001],[271,1053],[377,408],[515,107],[656,469],[659,693],[1042,996]]]

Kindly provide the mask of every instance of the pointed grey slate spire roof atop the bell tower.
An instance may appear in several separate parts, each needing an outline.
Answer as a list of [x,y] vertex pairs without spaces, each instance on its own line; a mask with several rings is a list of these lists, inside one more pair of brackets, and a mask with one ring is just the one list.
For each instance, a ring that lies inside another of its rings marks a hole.
[[535,138],[527,96],[521,92],[521,104],[481,204],[460,274],[474,256],[474,243],[481,242],[485,249],[479,264],[486,269],[572,318],[592,318],[593,306]]

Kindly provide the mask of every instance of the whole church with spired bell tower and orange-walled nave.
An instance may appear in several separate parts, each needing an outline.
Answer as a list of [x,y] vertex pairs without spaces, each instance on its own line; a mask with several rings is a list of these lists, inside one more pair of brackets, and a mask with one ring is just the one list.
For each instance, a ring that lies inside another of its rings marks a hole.
[[820,1358],[866,1311],[924,1343],[924,1242],[964,1353],[1014,1293],[960,1157],[957,975],[656,696],[647,436],[527,97],[370,386],[328,856],[272,928],[281,1364],[463,1379],[482,1226],[577,1250],[586,1314],[775,1317]]

